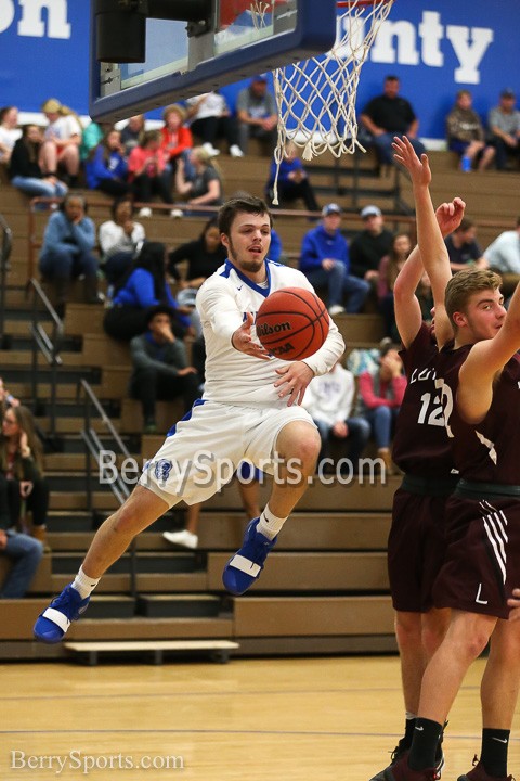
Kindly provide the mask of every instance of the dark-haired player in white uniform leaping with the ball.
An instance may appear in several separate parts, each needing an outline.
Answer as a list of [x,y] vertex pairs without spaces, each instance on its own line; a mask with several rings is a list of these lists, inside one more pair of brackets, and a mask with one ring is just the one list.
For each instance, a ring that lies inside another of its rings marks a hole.
[[320,452],[317,430],[300,406],[303,394],[344,349],[334,322],[323,346],[304,361],[272,358],[260,345],[253,322],[265,297],[288,286],[312,290],[300,271],[266,259],[271,227],[259,199],[233,199],[220,209],[229,257],[197,294],[207,351],[204,396],[168,433],[125,504],[96,532],[75,580],[38,617],[37,640],[60,642],[132,539],[182,499],[193,504],[211,497],[231,481],[243,458],[273,474],[273,488],[227,562],[223,582],[240,594],[259,577]]

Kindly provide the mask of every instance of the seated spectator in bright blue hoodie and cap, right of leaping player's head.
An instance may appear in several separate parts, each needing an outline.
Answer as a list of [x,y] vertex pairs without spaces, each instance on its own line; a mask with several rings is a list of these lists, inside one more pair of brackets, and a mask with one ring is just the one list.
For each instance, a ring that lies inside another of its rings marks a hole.
[[300,256],[300,270],[309,282],[327,289],[332,316],[361,311],[370,290],[369,282],[350,274],[349,247],[340,223],[341,207],[335,203],[324,206],[321,223],[303,236]]

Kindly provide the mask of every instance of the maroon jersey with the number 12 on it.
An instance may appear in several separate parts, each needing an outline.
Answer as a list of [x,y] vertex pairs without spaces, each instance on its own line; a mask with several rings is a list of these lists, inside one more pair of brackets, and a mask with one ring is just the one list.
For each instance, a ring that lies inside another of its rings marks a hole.
[[398,415],[392,459],[406,474],[450,477],[453,457],[441,394],[435,388],[439,350],[430,327],[422,323],[410,347],[400,355],[408,382]]

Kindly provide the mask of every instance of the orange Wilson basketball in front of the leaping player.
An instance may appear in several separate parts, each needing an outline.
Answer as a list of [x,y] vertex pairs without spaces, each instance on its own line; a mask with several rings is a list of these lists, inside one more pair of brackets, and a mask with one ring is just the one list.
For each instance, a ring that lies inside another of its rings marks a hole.
[[315,293],[284,287],[271,293],[257,313],[257,336],[271,355],[282,360],[309,358],[328,334],[328,312]]

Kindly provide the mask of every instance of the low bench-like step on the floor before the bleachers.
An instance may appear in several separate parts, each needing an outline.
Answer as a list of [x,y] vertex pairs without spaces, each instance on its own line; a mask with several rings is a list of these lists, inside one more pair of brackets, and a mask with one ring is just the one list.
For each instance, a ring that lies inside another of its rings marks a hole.
[[65,642],[66,651],[80,660],[87,655],[87,664],[96,665],[100,654],[140,653],[151,654],[154,664],[160,665],[165,652],[207,651],[213,662],[229,662],[230,652],[240,648],[231,640],[118,640],[113,642]]

